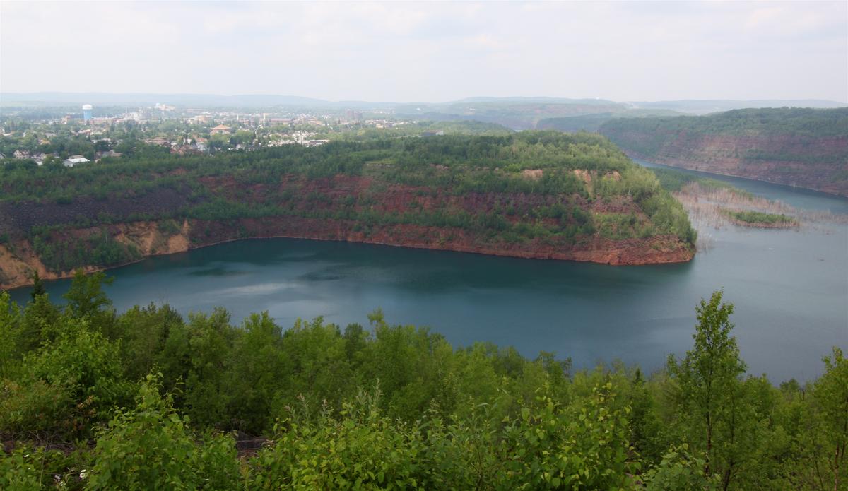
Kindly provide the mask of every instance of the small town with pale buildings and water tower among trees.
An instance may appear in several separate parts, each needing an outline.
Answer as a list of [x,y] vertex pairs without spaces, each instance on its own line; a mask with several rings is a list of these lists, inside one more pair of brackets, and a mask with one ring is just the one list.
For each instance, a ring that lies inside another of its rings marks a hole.
[[[14,110],[3,113],[8,117],[0,123],[0,159],[31,159],[37,165],[58,162],[65,167],[120,159],[128,137],[133,143],[186,155],[291,144],[318,147],[329,142],[332,134],[344,131],[416,124],[416,120],[398,120],[380,112],[365,117],[354,109],[215,111],[177,109],[164,103],[134,109],[83,104],[77,113],[49,117]],[[441,131],[418,133],[431,136]]]

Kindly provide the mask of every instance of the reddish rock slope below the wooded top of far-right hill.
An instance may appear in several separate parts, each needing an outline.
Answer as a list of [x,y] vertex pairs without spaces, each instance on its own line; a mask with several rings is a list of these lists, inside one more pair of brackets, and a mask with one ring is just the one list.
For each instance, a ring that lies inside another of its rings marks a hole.
[[[655,135],[633,131],[607,136],[637,159],[848,196],[845,136]],[[636,149],[658,138],[661,145],[656,153]]]

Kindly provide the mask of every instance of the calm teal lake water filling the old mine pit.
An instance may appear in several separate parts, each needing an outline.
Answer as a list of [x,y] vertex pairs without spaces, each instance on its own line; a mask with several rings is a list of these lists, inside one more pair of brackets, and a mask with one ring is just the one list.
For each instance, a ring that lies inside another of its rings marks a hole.
[[[700,173],[703,174],[703,173]],[[848,213],[848,200],[763,182],[731,181],[797,208]],[[269,239],[146,259],[113,271],[118,310],[170,304],[183,314],[226,307],[240,322],[268,310],[282,326],[323,315],[367,324],[429,326],[455,346],[488,341],[527,356],[540,350],[578,367],[623,360],[644,370],[692,344],[695,304],[723,288],[734,334],[754,374],[773,382],[822,371],[834,345],[848,349],[848,226],[800,230],[729,226],[681,265],[607,266],[511,259],[357,243]],[[69,281],[49,282],[60,299]],[[29,288],[12,292],[25,302]]]

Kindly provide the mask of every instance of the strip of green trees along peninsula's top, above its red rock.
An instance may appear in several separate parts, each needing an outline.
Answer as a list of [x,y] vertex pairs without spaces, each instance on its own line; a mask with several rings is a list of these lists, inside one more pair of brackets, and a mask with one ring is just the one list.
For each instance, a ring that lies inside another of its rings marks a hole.
[[[131,159],[109,165],[75,169],[8,163],[0,167],[0,187],[5,202],[49,200],[79,196],[104,196],[109,192],[145,192],[168,187],[191,176],[232,175],[245,183],[266,182],[284,174],[328,177],[360,176],[366,164],[398,165],[388,174],[418,176],[428,166],[448,166],[451,180],[472,170],[502,170],[497,181],[509,181],[522,169],[625,170],[633,167],[615,145],[587,133],[562,135],[555,131],[525,131],[503,137],[396,138],[373,137],[364,142],[331,142],[319,148],[284,146],[254,152],[219,153],[214,156],[175,156],[148,153],[146,148]],[[169,171],[180,170],[180,175]],[[434,176],[436,170],[426,174]],[[449,181],[451,181],[449,180]],[[433,183],[443,183],[434,180]]]

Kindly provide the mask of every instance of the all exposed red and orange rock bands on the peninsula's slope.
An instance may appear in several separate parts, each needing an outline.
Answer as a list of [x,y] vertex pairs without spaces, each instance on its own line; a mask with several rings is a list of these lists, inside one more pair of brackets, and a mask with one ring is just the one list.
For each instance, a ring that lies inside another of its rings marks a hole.
[[[695,250],[677,236],[661,235],[648,238],[610,240],[600,235],[578,236],[566,239],[524,239],[508,241],[497,232],[461,228],[458,226],[424,226],[415,223],[386,222],[365,225],[356,220],[332,218],[335,212],[348,209],[360,212],[370,209],[385,215],[404,215],[433,210],[452,210],[469,215],[496,213],[515,224],[528,218],[533,209],[542,205],[568,202],[583,209],[587,214],[621,213],[632,214],[639,220],[647,216],[628,196],[619,196],[611,201],[588,201],[579,196],[554,196],[517,192],[449,192],[401,184],[375,183],[367,177],[335,176],[322,179],[305,179],[300,176],[283,176],[278,186],[257,184],[244,187],[232,178],[204,178],[204,185],[216,195],[238,198],[244,204],[261,204],[269,199],[276,200],[286,215],[263,218],[239,218],[233,220],[193,220],[182,222],[178,230],[160,227],[159,223],[126,222],[109,226],[80,229],[64,229],[56,232],[53,239],[66,242],[71,239],[91,237],[108,232],[120,243],[133,246],[142,257],[156,254],[171,254],[190,248],[201,248],[246,238],[293,237],[315,240],[338,240],[359,243],[385,244],[410,248],[433,248],[466,253],[512,256],[527,259],[566,259],[591,261],[608,265],[648,265],[677,263],[692,259]],[[74,213],[75,206],[87,206],[87,202],[67,205],[66,213]],[[50,206],[31,207],[27,204],[7,209],[9,216],[23,217],[22,224],[42,224],[55,218]],[[132,206],[125,204],[125,206]],[[347,208],[345,208],[347,206]],[[504,210],[509,209],[507,214]],[[21,210],[27,211],[23,213]],[[137,209],[123,209],[129,214]],[[310,215],[313,214],[313,215]],[[310,216],[324,215],[325,218]],[[42,216],[44,215],[44,216]],[[571,217],[546,218],[550,225],[566,225]],[[25,231],[23,225],[12,220],[7,226],[13,231]],[[17,228],[14,228],[17,227]],[[20,287],[30,283],[30,271],[39,271],[45,279],[72,276],[72,271],[47,271],[38,258],[25,234],[15,233],[16,238],[8,247],[0,247],[0,289]],[[98,268],[86,266],[86,270]]]

